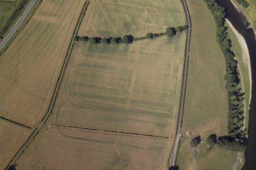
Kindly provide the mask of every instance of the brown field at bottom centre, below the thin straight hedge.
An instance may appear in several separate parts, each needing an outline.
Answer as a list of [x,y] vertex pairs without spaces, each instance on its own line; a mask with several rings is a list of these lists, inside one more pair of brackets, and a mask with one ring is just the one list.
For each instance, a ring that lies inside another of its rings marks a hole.
[[18,169],[166,169],[169,140],[48,127]]

